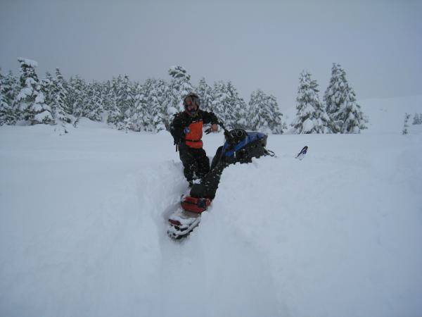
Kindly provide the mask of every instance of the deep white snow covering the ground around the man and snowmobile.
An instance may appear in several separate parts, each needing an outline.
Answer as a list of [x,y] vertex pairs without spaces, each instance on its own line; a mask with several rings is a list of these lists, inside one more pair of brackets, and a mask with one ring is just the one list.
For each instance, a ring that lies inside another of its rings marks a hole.
[[422,98],[360,104],[362,135],[270,135],[224,170],[181,242],[167,132],[0,127],[0,316],[421,316]]

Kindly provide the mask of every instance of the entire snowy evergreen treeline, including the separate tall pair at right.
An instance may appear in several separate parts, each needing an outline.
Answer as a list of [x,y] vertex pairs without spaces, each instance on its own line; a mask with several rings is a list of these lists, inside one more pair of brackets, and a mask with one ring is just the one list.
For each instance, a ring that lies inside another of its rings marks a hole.
[[[201,108],[214,112],[228,128],[283,133],[287,130],[276,98],[257,89],[246,103],[231,81],[198,86],[181,66],[168,71],[170,80],[149,78],[143,83],[127,75],[105,82],[86,82],[79,76],[65,80],[56,68],[54,75],[39,78],[37,62],[18,58],[18,77],[0,72],[0,125],[77,125],[79,118],[106,122],[124,130],[158,132],[168,130],[175,113],[183,110],[188,92],[200,96]],[[330,85],[319,101],[318,85],[310,73],[302,72],[293,133],[359,133],[366,119],[347,83],[345,71],[333,64]]]

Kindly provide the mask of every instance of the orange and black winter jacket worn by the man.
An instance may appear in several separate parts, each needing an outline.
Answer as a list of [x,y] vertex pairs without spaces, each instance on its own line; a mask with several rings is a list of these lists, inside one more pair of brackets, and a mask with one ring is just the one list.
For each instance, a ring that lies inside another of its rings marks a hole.
[[177,113],[170,125],[174,144],[184,142],[188,147],[202,148],[203,125],[217,122],[218,119],[214,113],[200,109],[194,117],[189,116],[186,112]]

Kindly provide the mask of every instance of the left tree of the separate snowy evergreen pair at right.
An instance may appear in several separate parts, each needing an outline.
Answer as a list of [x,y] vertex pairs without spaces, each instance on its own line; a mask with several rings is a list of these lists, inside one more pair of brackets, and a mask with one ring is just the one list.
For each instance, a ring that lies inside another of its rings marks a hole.
[[296,119],[291,124],[296,133],[324,133],[329,131],[330,121],[321,101],[319,101],[318,92],[316,80],[312,80],[311,74],[304,70],[299,77]]

